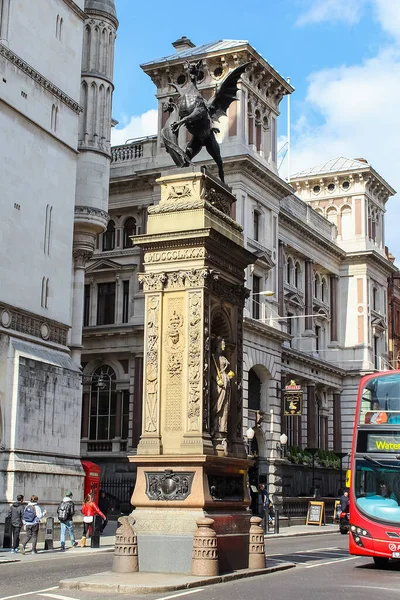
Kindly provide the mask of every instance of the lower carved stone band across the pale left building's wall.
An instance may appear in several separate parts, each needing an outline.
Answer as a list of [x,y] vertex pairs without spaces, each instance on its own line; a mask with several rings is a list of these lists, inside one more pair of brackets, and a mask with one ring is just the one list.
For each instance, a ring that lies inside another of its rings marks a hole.
[[44,323],[43,318],[3,303],[0,303],[0,326],[62,346],[67,345],[67,326],[48,320]]

